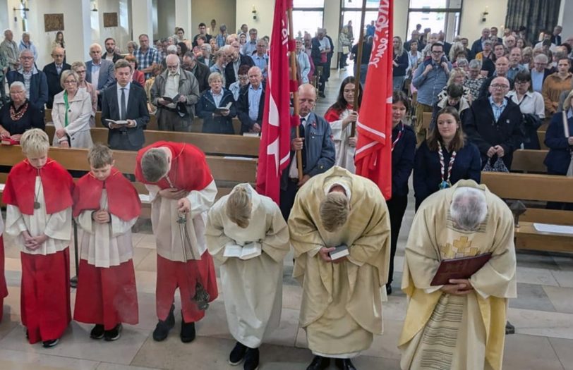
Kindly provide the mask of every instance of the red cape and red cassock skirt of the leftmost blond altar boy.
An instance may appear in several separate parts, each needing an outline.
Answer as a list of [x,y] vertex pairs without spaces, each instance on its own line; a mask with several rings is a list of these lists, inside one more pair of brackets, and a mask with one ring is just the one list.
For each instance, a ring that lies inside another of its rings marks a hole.
[[[53,159],[39,171],[27,160],[14,166],[4,187],[4,203],[17,206],[22,214],[34,214],[37,175],[42,179],[47,214],[72,206],[73,179]],[[47,255],[20,252],[20,257],[20,314],[28,340],[37,343],[60,338],[71,321],[69,250]]]

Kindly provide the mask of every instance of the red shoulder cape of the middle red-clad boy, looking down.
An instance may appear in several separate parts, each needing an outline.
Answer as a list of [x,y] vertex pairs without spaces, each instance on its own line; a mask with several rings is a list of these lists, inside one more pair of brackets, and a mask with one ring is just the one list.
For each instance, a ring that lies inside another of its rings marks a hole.
[[97,180],[92,173],[83,175],[73,190],[73,216],[78,217],[86,209],[99,209],[102,190],[107,190],[107,210],[123,221],[132,220],[141,213],[138,191],[116,168],[104,181]]

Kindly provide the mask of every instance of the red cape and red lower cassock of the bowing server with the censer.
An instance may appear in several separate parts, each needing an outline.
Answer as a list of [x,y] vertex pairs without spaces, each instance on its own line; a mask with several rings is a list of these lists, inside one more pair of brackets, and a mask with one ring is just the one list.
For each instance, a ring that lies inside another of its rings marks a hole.
[[[148,149],[167,147],[171,150],[171,169],[167,174],[171,183],[177,189],[188,192],[205,189],[213,181],[205,154],[191,144],[179,142],[155,142],[140,149],[135,167],[135,178],[148,185],[157,185],[160,189],[171,187],[169,182],[162,178],[157,183],[149,183],[143,178],[141,171],[141,157]],[[173,227],[179,227],[174,225]],[[199,280],[210,295],[210,301],[217,298],[217,276],[211,254],[203,253],[200,260],[188,260],[187,262],[171,261],[157,255],[157,286],[155,299],[157,305],[157,317],[159,320],[167,319],[171,304],[174,302],[175,290],[179,288],[181,295],[181,310],[185,322],[195,322],[205,316],[204,311],[197,309],[191,301],[195,295],[195,283]]]

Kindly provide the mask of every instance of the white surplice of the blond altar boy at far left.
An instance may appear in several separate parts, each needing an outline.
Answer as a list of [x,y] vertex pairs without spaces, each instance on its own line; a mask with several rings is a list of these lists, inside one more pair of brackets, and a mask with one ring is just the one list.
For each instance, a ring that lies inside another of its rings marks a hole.
[[[55,214],[46,214],[46,202],[40,176],[36,176],[35,187],[40,209],[34,209],[34,214],[22,214],[18,206],[8,204],[6,207],[6,233],[16,237],[21,251],[28,254],[53,254],[68,247],[71,240],[72,220],[71,206]],[[24,246],[23,231],[28,230],[30,236],[46,234],[48,239],[42,246],[30,250]]]

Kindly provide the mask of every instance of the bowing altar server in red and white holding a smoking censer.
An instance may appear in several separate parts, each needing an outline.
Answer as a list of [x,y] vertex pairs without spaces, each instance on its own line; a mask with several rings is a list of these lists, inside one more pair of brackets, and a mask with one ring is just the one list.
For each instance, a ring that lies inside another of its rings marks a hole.
[[[167,338],[175,324],[174,294],[181,296],[181,341],[195,339],[195,321],[205,316],[195,297],[203,285],[209,302],[217,298],[213,259],[205,253],[205,218],[217,187],[205,154],[191,144],[155,142],[140,149],[135,178],[145,184],[152,204],[151,221],[157,244],[155,300],[159,322],[153,339]],[[188,241],[183,241],[183,238]]]

